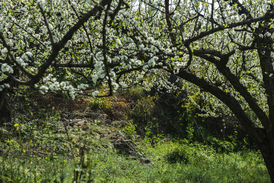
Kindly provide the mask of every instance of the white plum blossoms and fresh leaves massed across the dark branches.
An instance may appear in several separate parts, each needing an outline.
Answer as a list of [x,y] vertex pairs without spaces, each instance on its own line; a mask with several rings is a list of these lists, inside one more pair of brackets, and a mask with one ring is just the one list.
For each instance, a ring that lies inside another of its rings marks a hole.
[[[3,3],[4,2],[4,3]],[[27,72],[31,72],[32,74],[37,74],[38,71],[42,68],[41,66],[45,63],[46,59],[51,55],[53,49],[53,45],[51,44],[50,37],[48,35],[48,30],[45,26],[45,22],[43,16],[41,16],[41,12],[39,8],[43,10],[47,9],[47,13],[50,13],[50,16],[46,14],[48,22],[50,22],[49,28],[51,29],[53,41],[59,42],[64,38],[64,36],[70,31],[70,28],[75,25],[78,19],[75,17],[74,11],[72,7],[62,1],[54,0],[54,1],[46,1],[46,0],[38,0],[38,7],[33,7],[33,5],[28,5],[22,1],[22,4],[17,3],[16,1],[11,0],[2,0],[0,1],[1,6],[1,15],[0,16],[0,32],[3,34],[6,39],[7,44],[12,47],[10,51],[5,48],[5,45],[0,44],[1,59],[3,60],[1,67],[4,71],[11,71],[15,69],[18,64],[22,67],[26,68]],[[47,4],[46,2],[51,2]],[[189,60],[189,50],[184,45],[184,42],[189,38],[197,36],[193,30],[197,27],[197,23],[201,22],[200,32],[208,32],[212,28],[220,28],[226,27],[226,29],[218,32],[214,32],[213,34],[208,34],[206,37],[202,37],[201,39],[197,39],[196,41],[191,42],[190,46],[193,50],[202,50],[202,49],[215,49],[218,52],[225,53],[226,51],[235,50],[236,54],[233,54],[229,57],[227,67],[231,68],[231,72],[233,74],[237,74],[240,67],[233,65],[233,60],[238,60],[239,53],[244,54],[246,57],[246,63],[248,66],[247,70],[252,72],[259,80],[262,80],[262,73],[257,68],[253,68],[253,66],[258,65],[256,63],[258,61],[258,56],[252,50],[240,51],[239,45],[250,46],[249,44],[253,42],[254,35],[258,35],[260,38],[271,37],[272,34],[267,32],[261,33],[259,31],[254,31],[256,27],[259,26],[270,26],[266,21],[261,22],[253,22],[250,26],[246,25],[237,25],[236,27],[230,28],[231,23],[244,20],[246,16],[238,16],[238,6],[230,6],[230,1],[225,2],[221,0],[218,8],[214,12],[214,27],[211,27],[212,24],[209,22],[209,18],[211,16],[210,6],[207,7],[206,1],[185,1],[184,5],[178,6],[176,9],[174,2],[174,6],[172,5],[170,8],[172,9],[172,14],[170,15],[170,21],[172,24],[172,29],[170,29],[164,18],[163,12],[165,9],[162,5],[163,2],[151,2],[145,0],[145,3],[140,2],[142,4],[140,6],[140,10],[142,12],[137,12],[136,7],[134,7],[131,3],[128,4],[129,8],[122,6],[123,8],[118,11],[115,17],[111,18],[111,24],[108,24],[110,19],[108,19],[108,23],[106,26],[106,58],[108,64],[117,64],[114,67],[109,67],[109,76],[106,76],[106,69],[104,65],[104,56],[103,56],[103,42],[102,42],[102,23],[104,19],[103,16],[99,16],[102,13],[104,14],[105,10],[102,12],[98,11],[93,17],[98,17],[98,19],[90,18],[84,24],[87,26],[86,31],[89,35],[90,43],[87,40],[85,31],[80,28],[78,29],[72,39],[68,40],[65,44],[64,49],[62,49],[62,54],[58,54],[53,64],[50,65],[49,68],[44,73],[44,77],[40,79],[40,81],[36,84],[37,88],[41,85],[47,87],[46,90],[62,90],[64,93],[69,93],[73,95],[79,92],[79,89],[82,87],[90,87],[98,82],[98,79],[102,80],[108,84],[108,81],[116,81],[118,78],[116,75],[121,70],[134,70],[132,73],[127,73],[126,75],[121,75],[121,78],[117,82],[117,85],[112,85],[111,87],[118,88],[118,86],[125,87],[127,84],[136,84],[143,80],[142,83],[146,88],[151,87],[153,84],[149,83],[145,77],[149,77],[150,70],[153,73],[157,72],[157,74],[162,75],[161,69],[153,69],[156,64],[158,64],[159,68],[167,69],[170,73],[177,73],[180,68],[186,67]],[[98,1],[90,1],[87,0],[86,3],[80,4],[77,1],[73,0],[71,5],[78,12],[88,12],[91,8],[97,6]],[[10,6],[3,6],[6,4],[10,4]],[[20,7],[17,6],[20,4]],[[149,6],[155,6],[155,8],[159,8],[159,10],[153,8],[149,8]],[[194,6],[193,6],[194,5]],[[206,6],[205,6],[206,5]],[[248,7],[249,3],[245,4]],[[118,6],[118,1],[112,1],[111,7],[109,8],[109,15],[115,11]],[[265,3],[261,3],[260,6],[266,6]],[[184,7],[184,8],[182,8]],[[102,7],[103,8],[103,7]],[[104,6],[106,8],[106,6]],[[227,9],[229,11],[224,11],[223,14],[219,12],[217,9]],[[269,7],[268,7],[269,8]],[[9,14],[9,9],[16,10],[16,15]],[[249,9],[252,9],[249,7]],[[266,9],[265,9],[266,10]],[[148,11],[148,12],[147,12]],[[161,12],[163,11],[163,12]],[[262,16],[264,12],[258,10],[258,16]],[[195,12],[200,13],[197,19],[195,18]],[[6,17],[8,15],[8,17]],[[82,16],[82,15],[81,15]],[[254,18],[255,16],[252,14]],[[190,18],[192,17],[192,18]],[[189,19],[190,18],[190,19]],[[219,25],[218,25],[219,24]],[[224,24],[224,26],[223,26]],[[118,26],[116,26],[118,25]],[[121,26],[119,26],[121,25]],[[235,25],[235,24],[234,24]],[[120,28],[121,27],[121,28]],[[128,29],[127,33],[122,31],[123,28]],[[242,36],[240,35],[240,31],[242,28],[246,28],[248,31],[245,33],[246,42],[243,42]],[[172,31],[172,34],[175,35],[176,44],[173,44],[171,40],[171,35],[169,31]],[[252,33],[251,33],[252,31]],[[261,34],[260,34],[261,33]],[[229,36],[230,35],[230,36]],[[272,37],[273,38],[273,37]],[[271,38],[271,39],[272,39]],[[231,41],[233,39],[233,42]],[[270,38],[269,38],[270,39]],[[207,44],[205,44],[207,43]],[[90,45],[91,44],[91,45]],[[223,49],[221,49],[217,45],[223,45]],[[25,52],[25,53],[24,53]],[[264,53],[264,51],[260,51]],[[8,53],[8,54],[7,54]],[[14,55],[17,63],[14,63],[14,60],[10,59],[11,55]],[[34,56],[33,56],[34,55]],[[210,55],[210,54],[209,54]],[[18,56],[18,57],[17,57]],[[158,57],[161,57],[161,62],[157,63]],[[6,59],[9,58],[9,59]],[[9,60],[9,63],[6,63],[6,60]],[[240,61],[239,61],[240,62]],[[89,65],[91,67],[83,67],[83,68],[66,68],[62,73],[62,78],[56,76],[53,73],[58,70],[58,67],[54,67],[54,64],[79,64],[79,65]],[[4,66],[3,66],[4,64]],[[16,64],[16,65],[14,65]],[[171,68],[171,69],[170,69]],[[204,68],[208,68],[208,76],[201,74]],[[16,68],[18,69],[18,68]],[[135,71],[136,69],[136,71]],[[199,56],[194,55],[191,65],[189,66],[190,71],[194,71],[197,77],[204,77],[205,80],[210,80],[209,76],[216,76],[220,81],[222,81],[222,75],[220,73],[213,73],[212,69],[216,69],[212,67],[211,64],[207,63],[206,60],[201,59]],[[71,71],[75,71],[75,74]],[[3,71],[2,71],[3,72]],[[116,73],[115,73],[116,72]],[[19,71],[21,73],[21,71]],[[146,74],[146,75],[145,75]],[[242,74],[242,73],[240,73]],[[126,76],[126,77],[125,77]],[[271,74],[267,75],[269,77],[273,77]],[[0,80],[3,78],[7,78],[5,74],[2,73],[0,76]],[[17,79],[22,81],[27,81],[31,78],[27,76],[27,74],[22,74],[19,76],[15,76]],[[85,80],[85,77],[87,80]],[[165,77],[168,77],[166,73]],[[57,78],[57,79],[56,79]],[[69,81],[63,81],[69,80]],[[77,80],[74,82],[74,80]],[[157,82],[156,82],[157,80]],[[58,82],[59,81],[59,82]],[[87,85],[78,84],[78,82],[87,83]],[[172,90],[172,86],[168,86],[168,84],[163,84],[160,81],[160,78],[156,78],[155,80],[151,80],[151,82],[157,83],[161,85],[161,87],[165,85],[167,90]],[[250,78],[244,77],[240,81],[246,87],[249,87],[252,82]],[[77,89],[74,87],[77,85]],[[187,84],[188,85],[188,84]],[[3,85],[4,86],[4,85]],[[117,87],[116,87],[117,86]],[[189,85],[188,85],[189,86]],[[255,84],[253,87],[255,88],[257,85]],[[186,86],[187,87],[187,86]],[[42,87],[43,88],[43,87]],[[265,100],[265,97],[261,89],[254,89],[254,96],[260,96]],[[45,89],[45,88],[44,88]],[[257,94],[259,92],[260,94]],[[228,92],[231,95],[236,94],[233,89],[228,89]],[[234,92],[234,93],[233,93]],[[241,101],[242,99],[236,99]],[[263,101],[259,102],[263,104]],[[266,107],[264,106],[264,109]],[[208,109],[209,110],[209,109]],[[266,110],[267,111],[267,110]]]

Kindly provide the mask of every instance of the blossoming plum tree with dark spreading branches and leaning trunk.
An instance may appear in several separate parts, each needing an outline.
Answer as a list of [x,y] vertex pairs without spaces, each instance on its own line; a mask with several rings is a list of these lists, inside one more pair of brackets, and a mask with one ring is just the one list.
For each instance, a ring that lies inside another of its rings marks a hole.
[[169,91],[176,87],[166,79],[172,74],[201,88],[208,102],[228,106],[259,146],[274,182],[273,6],[262,0],[2,0],[0,110],[12,89],[74,96],[106,83],[107,96],[137,84]]

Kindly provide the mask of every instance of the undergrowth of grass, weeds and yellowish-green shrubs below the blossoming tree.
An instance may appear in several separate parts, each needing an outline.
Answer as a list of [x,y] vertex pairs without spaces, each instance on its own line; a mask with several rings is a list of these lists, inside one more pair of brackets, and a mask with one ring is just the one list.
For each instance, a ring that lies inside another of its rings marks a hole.
[[[168,138],[154,130],[150,113],[156,97],[144,98],[140,88],[130,94],[127,100],[135,105],[128,111],[120,98],[87,103],[90,109],[123,109],[135,117],[125,117],[126,126],[85,119],[83,126],[71,127],[57,110],[45,113],[39,108],[17,114],[0,127],[0,182],[270,182],[259,151],[236,151],[234,141],[213,136],[197,142],[193,126],[188,126],[186,139]],[[137,135],[138,126],[144,127],[143,135]],[[114,148],[108,136],[113,131],[135,142],[135,157]],[[141,163],[143,158],[150,163]]]

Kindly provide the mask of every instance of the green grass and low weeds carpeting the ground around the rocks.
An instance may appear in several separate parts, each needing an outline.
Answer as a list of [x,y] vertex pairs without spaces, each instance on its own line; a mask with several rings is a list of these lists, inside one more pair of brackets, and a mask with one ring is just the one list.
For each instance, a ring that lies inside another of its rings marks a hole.
[[113,130],[100,121],[68,127],[69,136],[57,113],[16,123],[0,129],[0,182],[270,182],[258,151],[219,154],[200,143],[135,139],[137,158],[150,159],[144,165],[118,154],[99,135]]

